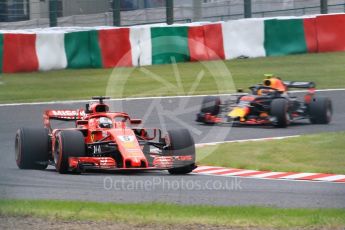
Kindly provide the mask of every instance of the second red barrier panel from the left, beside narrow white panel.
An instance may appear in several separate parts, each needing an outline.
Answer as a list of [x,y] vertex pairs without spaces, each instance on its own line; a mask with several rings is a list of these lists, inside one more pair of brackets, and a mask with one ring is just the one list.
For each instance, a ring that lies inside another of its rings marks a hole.
[[132,66],[128,28],[100,30],[99,44],[103,67]]

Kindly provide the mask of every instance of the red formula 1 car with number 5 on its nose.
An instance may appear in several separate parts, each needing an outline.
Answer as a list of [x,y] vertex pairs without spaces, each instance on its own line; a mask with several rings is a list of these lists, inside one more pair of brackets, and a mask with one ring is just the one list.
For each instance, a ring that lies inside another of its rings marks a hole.
[[[141,123],[122,112],[109,112],[106,97],[86,110],[47,110],[44,128],[21,128],[15,139],[20,169],[59,173],[88,169],[168,170],[187,174],[196,168],[194,140],[186,129],[168,131],[134,128]],[[51,120],[73,121],[75,128],[52,129]]]

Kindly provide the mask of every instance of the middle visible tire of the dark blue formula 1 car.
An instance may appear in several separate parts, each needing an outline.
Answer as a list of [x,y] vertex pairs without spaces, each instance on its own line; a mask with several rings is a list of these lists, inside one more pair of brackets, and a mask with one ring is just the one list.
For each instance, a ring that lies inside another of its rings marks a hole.
[[277,98],[271,102],[271,116],[275,117],[273,125],[286,128],[290,124],[289,103],[284,98]]

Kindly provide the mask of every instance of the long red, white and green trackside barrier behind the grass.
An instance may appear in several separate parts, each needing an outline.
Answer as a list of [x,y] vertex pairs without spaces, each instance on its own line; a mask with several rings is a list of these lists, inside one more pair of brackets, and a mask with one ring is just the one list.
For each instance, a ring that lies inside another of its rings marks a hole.
[[345,51],[345,14],[173,26],[0,30],[0,72]]

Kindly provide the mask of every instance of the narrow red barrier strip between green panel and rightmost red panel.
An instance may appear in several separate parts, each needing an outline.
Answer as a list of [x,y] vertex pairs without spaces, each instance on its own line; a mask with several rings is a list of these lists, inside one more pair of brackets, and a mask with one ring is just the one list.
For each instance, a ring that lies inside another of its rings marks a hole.
[[303,20],[304,36],[307,43],[308,53],[317,52],[317,32],[316,32],[316,19],[306,18]]

